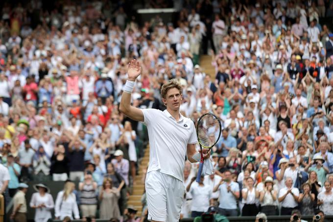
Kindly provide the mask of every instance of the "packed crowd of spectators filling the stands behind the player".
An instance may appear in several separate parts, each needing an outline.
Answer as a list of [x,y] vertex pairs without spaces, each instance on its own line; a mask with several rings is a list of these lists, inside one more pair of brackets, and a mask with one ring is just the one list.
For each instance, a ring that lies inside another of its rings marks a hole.
[[[327,18],[333,1],[170,2],[144,7],[174,7],[177,22],[157,15],[142,24],[129,16],[126,0],[2,4],[0,192],[6,200],[22,199],[22,182],[36,181],[44,184],[36,185],[39,196],[27,200],[36,215],[52,206],[61,220],[139,220],[126,200],[139,181],[147,133],[118,109],[127,64],[137,59],[142,74],[134,106],[165,109],[160,87],[175,78],[184,87],[184,116],[196,123],[213,112],[222,123],[212,154],[215,174],[193,183],[197,165],[186,162],[183,218],[209,206],[225,216],[291,215],[299,206],[302,215],[318,208],[331,215],[333,33]],[[200,54],[212,56],[214,73],[200,67]],[[55,204],[37,204],[48,197],[43,186],[50,180],[67,181],[64,191]],[[144,218],[144,194],[142,202]]]

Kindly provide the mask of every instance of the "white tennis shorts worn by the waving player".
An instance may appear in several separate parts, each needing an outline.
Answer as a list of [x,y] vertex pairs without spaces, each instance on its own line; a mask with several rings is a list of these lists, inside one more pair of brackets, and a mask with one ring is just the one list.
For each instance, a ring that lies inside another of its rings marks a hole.
[[145,190],[148,220],[178,222],[185,187],[182,181],[158,171],[147,173]]

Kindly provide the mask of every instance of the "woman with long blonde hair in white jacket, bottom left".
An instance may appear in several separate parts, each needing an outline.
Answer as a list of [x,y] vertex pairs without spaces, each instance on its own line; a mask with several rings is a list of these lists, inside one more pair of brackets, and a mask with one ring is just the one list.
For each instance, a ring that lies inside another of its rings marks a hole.
[[73,220],[73,214],[75,219],[80,219],[76,196],[73,193],[74,189],[75,184],[68,181],[64,185],[64,190],[58,193],[54,208],[56,220],[64,220],[65,217],[70,217]]

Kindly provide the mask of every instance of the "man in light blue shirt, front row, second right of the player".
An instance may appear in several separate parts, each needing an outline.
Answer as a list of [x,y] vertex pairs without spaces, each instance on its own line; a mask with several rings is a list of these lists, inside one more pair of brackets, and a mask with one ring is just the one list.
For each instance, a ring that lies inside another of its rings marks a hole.
[[226,170],[224,172],[224,179],[214,187],[213,192],[219,190],[220,204],[218,205],[219,213],[224,216],[236,217],[237,213],[237,200],[239,198],[238,183],[231,180],[231,172]]

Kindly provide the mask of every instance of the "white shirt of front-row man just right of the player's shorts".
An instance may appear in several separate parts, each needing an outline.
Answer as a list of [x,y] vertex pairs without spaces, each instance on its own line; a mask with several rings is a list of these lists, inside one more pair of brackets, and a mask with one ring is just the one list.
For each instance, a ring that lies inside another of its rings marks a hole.
[[206,212],[209,208],[209,200],[212,197],[212,191],[209,186],[199,186],[193,182],[190,187],[192,195],[191,211]]

